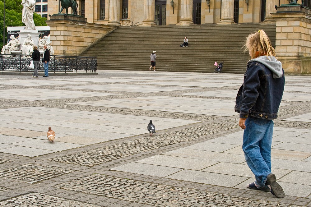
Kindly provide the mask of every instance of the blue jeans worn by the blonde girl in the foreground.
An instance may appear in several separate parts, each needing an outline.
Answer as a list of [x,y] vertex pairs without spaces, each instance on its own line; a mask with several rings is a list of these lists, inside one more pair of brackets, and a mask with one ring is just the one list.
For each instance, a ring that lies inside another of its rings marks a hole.
[[256,184],[262,187],[271,173],[273,121],[248,117],[245,127],[242,145],[245,160],[255,175]]

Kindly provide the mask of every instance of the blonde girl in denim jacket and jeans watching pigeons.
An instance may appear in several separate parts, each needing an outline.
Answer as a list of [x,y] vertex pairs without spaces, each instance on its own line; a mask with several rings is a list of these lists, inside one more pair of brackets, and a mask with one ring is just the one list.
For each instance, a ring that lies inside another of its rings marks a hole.
[[245,160],[256,178],[246,187],[270,191],[283,198],[284,191],[271,171],[271,145],[273,119],[277,117],[284,90],[284,70],[263,30],[249,34],[244,46],[251,60],[247,62],[234,110],[239,113],[239,126],[244,129]]

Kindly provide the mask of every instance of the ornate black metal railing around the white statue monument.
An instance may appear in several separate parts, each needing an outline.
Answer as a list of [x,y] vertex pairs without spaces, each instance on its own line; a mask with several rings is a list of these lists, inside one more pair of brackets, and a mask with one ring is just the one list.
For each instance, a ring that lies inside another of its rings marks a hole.
[[[8,57],[11,56],[11,57]],[[31,57],[27,55],[6,55],[0,54],[0,71],[33,71],[29,68]],[[38,70],[43,70],[43,62],[39,61]],[[51,72],[74,72],[76,71],[91,71],[96,72],[97,59],[96,57],[82,57],[82,56],[63,56],[53,55],[49,61],[49,71]]]

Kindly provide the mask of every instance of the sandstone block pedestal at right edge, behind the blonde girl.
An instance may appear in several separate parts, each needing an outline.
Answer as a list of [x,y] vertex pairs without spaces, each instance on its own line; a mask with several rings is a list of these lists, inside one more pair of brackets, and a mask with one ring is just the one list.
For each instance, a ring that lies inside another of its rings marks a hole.
[[276,57],[285,73],[311,74],[311,10],[282,4],[271,14],[276,20]]

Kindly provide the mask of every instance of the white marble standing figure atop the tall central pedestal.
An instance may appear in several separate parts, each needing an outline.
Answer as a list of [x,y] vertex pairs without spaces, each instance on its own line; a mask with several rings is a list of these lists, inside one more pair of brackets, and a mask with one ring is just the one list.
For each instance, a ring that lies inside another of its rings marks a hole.
[[23,12],[21,21],[25,23],[26,30],[35,30],[34,22],[34,11],[35,11],[35,0],[22,0],[21,4],[23,5]]

